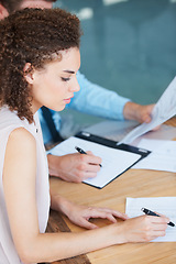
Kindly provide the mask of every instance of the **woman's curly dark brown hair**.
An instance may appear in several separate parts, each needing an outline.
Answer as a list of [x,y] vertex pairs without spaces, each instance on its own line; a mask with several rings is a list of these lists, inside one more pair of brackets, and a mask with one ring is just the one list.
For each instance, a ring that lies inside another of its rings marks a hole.
[[79,48],[80,23],[62,9],[24,9],[0,22],[0,107],[8,106],[20,119],[33,122],[32,97],[23,68],[35,69],[54,59],[54,54]]

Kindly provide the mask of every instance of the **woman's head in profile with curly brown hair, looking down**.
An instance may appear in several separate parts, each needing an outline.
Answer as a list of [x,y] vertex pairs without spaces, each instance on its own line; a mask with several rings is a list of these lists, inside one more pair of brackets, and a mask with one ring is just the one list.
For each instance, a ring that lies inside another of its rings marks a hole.
[[0,21],[0,107],[33,122],[37,107],[59,111],[79,90],[80,24],[61,9],[24,9]]

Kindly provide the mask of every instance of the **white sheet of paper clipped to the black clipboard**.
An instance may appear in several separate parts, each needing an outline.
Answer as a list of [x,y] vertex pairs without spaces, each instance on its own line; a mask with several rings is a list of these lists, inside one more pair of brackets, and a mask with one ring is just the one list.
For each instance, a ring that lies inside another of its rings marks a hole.
[[75,146],[82,148],[85,152],[91,151],[95,155],[102,158],[102,167],[97,174],[97,177],[84,180],[84,183],[98,188],[105,187],[108,183],[125,172],[131,165],[141,158],[141,155],[139,154],[116,150],[75,136],[63,141],[61,144],[51,150],[50,153],[58,156],[77,153]]

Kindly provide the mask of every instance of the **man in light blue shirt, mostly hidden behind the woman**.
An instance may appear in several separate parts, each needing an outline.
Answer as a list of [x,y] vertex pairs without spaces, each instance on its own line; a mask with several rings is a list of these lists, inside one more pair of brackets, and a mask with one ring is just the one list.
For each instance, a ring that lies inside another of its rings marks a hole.
[[[52,8],[54,0],[0,0],[0,19],[10,12],[23,8]],[[131,102],[130,99],[119,96],[114,91],[107,90],[87,80],[80,73],[77,74],[80,90],[75,94],[68,108],[78,111],[113,119],[113,120],[136,120],[139,122],[150,122],[153,105],[141,106]],[[56,129],[61,130],[62,120],[58,112],[52,111]],[[52,140],[47,124],[40,112],[40,120],[43,130],[44,143]],[[61,177],[67,182],[80,183],[86,178],[96,177],[100,169],[101,158],[91,152],[88,155],[79,153],[65,156],[47,155],[50,174]]]

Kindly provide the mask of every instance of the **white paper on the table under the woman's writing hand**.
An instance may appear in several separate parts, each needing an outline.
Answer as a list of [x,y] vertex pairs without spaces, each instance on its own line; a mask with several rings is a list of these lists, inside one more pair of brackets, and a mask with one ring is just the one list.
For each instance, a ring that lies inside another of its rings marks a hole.
[[[176,197],[154,197],[154,198],[127,198],[125,213],[130,218],[143,216],[142,208],[165,215],[176,224]],[[160,237],[151,242],[175,242],[176,227],[167,224],[166,235]]]

